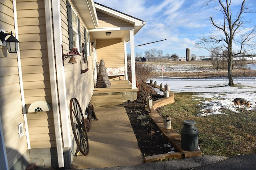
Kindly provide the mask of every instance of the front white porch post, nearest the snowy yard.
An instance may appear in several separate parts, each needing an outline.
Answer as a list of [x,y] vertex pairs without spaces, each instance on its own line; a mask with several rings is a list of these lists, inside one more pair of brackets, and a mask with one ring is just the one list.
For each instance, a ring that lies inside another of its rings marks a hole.
[[131,68],[132,68],[132,89],[136,89],[134,29],[130,30],[130,49],[131,49]]

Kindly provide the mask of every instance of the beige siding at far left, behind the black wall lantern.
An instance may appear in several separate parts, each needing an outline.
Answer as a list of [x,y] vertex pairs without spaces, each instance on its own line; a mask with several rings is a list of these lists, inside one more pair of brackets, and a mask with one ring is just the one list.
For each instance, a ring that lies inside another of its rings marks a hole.
[[[0,28],[5,33],[11,31],[15,36],[13,4],[11,0],[0,2]],[[6,39],[9,35],[6,37]],[[0,46],[0,116],[8,166],[12,166],[28,150],[26,132],[19,137],[18,125],[23,123],[22,101],[20,93],[17,54],[8,53],[5,46]]]

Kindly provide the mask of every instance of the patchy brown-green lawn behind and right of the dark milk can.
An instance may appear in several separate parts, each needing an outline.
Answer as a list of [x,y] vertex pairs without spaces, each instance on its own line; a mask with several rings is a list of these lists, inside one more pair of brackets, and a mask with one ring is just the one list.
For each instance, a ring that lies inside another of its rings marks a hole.
[[236,156],[256,153],[256,115],[254,111],[234,113],[222,109],[226,115],[198,117],[198,100],[192,93],[175,93],[175,103],[158,109],[158,113],[172,118],[172,127],[180,133],[182,121],[194,120],[199,130],[202,154]]

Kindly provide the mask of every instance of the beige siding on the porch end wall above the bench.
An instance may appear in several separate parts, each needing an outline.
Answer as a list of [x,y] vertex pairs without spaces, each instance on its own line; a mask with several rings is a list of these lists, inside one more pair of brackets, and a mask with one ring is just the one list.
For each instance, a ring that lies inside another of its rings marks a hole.
[[124,67],[124,42],[121,39],[97,39],[97,62],[103,59],[106,68]]

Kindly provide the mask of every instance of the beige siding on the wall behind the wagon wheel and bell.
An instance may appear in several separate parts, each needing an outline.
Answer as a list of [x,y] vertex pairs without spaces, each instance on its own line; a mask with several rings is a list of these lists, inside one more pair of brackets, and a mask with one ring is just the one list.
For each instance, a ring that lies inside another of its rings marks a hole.
[[[72,2],[70,2],[72,5]],[[68,40],[68,19],[67,19],[67,8],[66,0],[62,0],[61,4],[61,24],[62,24],[62,45],[64,53],[68,53],[69,49],[69,40]],[[73,6],[73,5],[72,5]],[[75,10],[75,8],[73,8]],[[78,16],[79,17],[79,16]],[[81,43],[84,43],[84,27],[86,24],[80,18],[80,33],[81,33]],[[88,31],[88,28],[86,27]],[[90,42],[95,40],[90,36]],[[82,44],[80,45],[82,46]],[[89,53],[89,51],[88,51]],[[69,103],[71,98],[76,98],[81,106],[82,112],[85,112],[86,107],[88,106],[90,99],[93,95],[94,89],[94,78],[93,78],[93,52],[91,51],[91,56],[87,57],[88,60],[88,71],[81,74],[80,61],[83,59],[82,53],[81,56],[74,56],[76,59],[76,64],[68,64],[69,59],[64,61],[64,74],[65,74],[65,83],[66,83],[66,96],[67,103],[69,108]],[[69,114],[69,113],[68,113]],[[74,141],[74,134],[70,126],[70,135],[72,141],[72,151],[75,151],[77,145]]]

